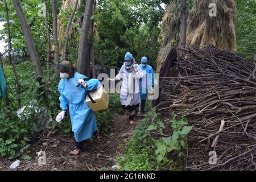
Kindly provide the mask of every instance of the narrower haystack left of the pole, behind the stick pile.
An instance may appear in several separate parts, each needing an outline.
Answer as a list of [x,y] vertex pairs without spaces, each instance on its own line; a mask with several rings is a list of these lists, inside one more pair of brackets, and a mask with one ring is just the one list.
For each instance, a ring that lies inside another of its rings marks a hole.
[[160,71],[170,50],[179,44],[180,16],[181,13],[177,10],[176,4],[170,3],[163,16],[162,29],[158,38],[158,42],[162,46],[159,49],[156,59],[157,72]]

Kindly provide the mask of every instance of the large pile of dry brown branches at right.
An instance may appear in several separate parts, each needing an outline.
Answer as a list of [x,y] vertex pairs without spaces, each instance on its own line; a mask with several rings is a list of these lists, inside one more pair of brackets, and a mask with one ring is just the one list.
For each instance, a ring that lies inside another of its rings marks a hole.
[[163,115],[174,111],[193,126],[185,168],[255,170],[254,64],[214,47],[190,45],[177,52],[170,77],[160,78],[156,109]]

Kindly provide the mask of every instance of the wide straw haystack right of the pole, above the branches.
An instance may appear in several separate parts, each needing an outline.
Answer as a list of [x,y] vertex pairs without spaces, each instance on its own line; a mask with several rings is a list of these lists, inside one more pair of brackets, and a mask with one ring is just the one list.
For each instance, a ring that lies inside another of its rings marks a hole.
[[[209,16],[209,4],[216,3],[217,16]],[[234,0],[196,0],[187,20],[187,43],[198,46],[212,44],[221,50],[236,49],[235,24],[237,8]]]

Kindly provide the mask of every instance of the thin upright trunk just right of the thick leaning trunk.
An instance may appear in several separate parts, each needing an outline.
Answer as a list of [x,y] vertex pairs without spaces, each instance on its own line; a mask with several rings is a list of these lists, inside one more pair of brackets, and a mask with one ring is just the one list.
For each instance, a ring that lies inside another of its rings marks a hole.
[[50,73],[49,73],[49,60],[51,59],[51,37],[49,35],[49,25],[47,20],[47,7],[46,1],[44,1],[45,5],[45,15],[44,15],[44,22],[46,24],[46,35],[47,35],[47,81],[51,81]]

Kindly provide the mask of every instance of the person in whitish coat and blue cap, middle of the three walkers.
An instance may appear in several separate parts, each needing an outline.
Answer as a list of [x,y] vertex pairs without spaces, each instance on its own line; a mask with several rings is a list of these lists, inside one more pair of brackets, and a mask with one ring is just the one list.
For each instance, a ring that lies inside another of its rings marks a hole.
[[135,62],[133,55],[130,52],[125,54],[125,63],[123,63],[119,73],[110,81],[123,79],[121,85],[120,99],[125,114],[129,114],[130,125],[134,124],[134,115],[137,114],[139,102],[139,78],[142,78],[144,73],[139,65]]

